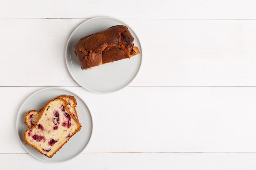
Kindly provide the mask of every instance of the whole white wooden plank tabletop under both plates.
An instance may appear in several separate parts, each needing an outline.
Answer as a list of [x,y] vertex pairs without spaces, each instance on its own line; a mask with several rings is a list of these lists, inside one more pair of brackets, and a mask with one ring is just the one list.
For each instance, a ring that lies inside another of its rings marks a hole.
[[[65,63],[70,34],[97,16],[129,24],[143,48],[115,93],[85,90]],[[255,0],[0,0],[0,49],[0,169],[256,170]],[[16,133],[22,103],[47,87],[92,114],[88,146],[64,163],[35,159]]]

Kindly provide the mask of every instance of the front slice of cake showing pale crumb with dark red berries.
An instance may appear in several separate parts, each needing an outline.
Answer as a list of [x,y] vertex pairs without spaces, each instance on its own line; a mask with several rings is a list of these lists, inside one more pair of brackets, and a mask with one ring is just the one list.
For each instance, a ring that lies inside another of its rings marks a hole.
[[81,129],[65,99],[50,100],[40,111],[40,117],[34,126],[24,133],[27,145],[51,158],[62,146]]

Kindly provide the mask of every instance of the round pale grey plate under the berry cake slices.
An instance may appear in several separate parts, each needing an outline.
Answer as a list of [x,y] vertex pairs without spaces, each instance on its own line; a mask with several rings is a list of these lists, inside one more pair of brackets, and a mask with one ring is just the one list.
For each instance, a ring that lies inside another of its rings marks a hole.
[[[49,100],[60,95],[73,95],[76,98],[76,112],[82,128],[73,137],[71,137],[70,140],[58,152],[56,152],[52,158],[48,158],[45,155],[40,154],[40,152],[33,147],[25,145],[23,135],[25,130],[27,130],[27,125],[24,124],[24,116],[29,110],[40,110],[40,108],[43,108]],[[45,88],[32,94],[22,104],[18,112],[16,123],[18,138],[25,150],[27,150],[27,152],[29,152],[33,157],[41,161],[51,163],[64,162],[79,155],[85,146],[87,146],[92,135],[92,117],[90,110],[78,95],[65,90],[64,88]]]

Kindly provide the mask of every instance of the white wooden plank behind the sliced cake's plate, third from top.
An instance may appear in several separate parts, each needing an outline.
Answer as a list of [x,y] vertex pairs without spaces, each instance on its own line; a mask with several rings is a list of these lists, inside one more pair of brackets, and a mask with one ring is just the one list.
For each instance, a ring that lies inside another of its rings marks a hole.
[[[0,87],[1,153],[26,153],[16,135],[22,102],[40,87]],[[255,152],[255,87],[127,87],[95,94],[67,87],[88,105],[83,152]],[[19,95],[17,95],[19,94]]]

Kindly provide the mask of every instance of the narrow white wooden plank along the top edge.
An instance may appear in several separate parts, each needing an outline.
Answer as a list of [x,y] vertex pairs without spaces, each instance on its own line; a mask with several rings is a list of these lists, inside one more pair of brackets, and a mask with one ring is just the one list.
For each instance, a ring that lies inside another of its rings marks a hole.
[[0,18],[256,19],[254,0],[1,1]]

